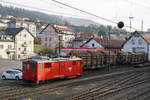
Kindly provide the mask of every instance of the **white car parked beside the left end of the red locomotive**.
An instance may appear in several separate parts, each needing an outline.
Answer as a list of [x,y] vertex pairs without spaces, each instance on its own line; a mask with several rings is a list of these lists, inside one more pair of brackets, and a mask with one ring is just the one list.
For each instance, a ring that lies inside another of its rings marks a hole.
[[2,79],[16,79],[20,80],[22,79],[22,71],[15,70],[15,69],[8,69],[5,70],[2,74]]

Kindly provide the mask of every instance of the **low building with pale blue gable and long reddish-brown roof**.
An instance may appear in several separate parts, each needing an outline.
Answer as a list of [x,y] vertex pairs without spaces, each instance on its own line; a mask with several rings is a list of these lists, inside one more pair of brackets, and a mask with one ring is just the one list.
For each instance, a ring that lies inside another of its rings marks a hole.
[[119,52],[122,50],[122,40],[107,40],[98,38],[87,38],[81,44],[81,48],[104,48],[112,52]]

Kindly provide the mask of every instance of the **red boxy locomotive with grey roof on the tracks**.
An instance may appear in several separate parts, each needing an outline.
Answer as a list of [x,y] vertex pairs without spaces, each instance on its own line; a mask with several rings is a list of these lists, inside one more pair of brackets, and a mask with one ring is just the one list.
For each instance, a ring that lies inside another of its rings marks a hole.
[[40,81],[82,75],[80,58],[31,58],[23,61],[23,80]]

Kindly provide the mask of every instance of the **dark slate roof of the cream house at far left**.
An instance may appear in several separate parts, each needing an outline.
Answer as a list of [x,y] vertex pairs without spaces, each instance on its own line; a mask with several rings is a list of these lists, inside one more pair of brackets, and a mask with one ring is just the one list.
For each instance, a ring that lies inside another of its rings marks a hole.
[[4,31],[0,32],[0,35],[11,35],[16,36],[20,31],[24,30],[24,28],[7,28]]

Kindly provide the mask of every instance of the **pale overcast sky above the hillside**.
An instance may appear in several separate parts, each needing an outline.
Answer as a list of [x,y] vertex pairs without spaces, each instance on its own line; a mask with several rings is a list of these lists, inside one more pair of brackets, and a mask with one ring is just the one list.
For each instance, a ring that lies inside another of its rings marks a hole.
[[[92,19],[97,23],[104,25],[113,25],[110,22],[93,17],[91,15],[65,7],[52,0],[1,0],[21,4],[22,7],[40,10],[42,12],[57,14],[61,16],[73,16],[77,18]],[[141,30],[141,21],[143,20],[144,31],[150,28],[150,1],[149,0],[58,0],[70,6],[88,11],[103,18],[110,19],[115,22],[123,21],[129,26],[129,17],[132,19],[132,27]],[[8,3],[7,3],[8,4]],[[11,4],[14,5],[14,4]],[[21,6],[20,5],[20,6]],[[25,6],[23,6],[25,5]],[[29,6],[29,7],[28,7]],[[126,28],[129,30],[129,28]],[[134,30],[132,30],[134,31]]]

